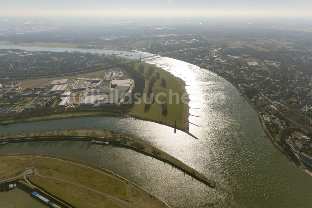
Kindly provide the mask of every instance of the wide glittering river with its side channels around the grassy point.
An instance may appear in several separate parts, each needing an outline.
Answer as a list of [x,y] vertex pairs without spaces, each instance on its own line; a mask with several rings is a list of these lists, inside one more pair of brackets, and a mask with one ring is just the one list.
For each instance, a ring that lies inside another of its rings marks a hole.
[[[64,50],[82,51],[53,49]],[[190,124],[190,132],[199,140],[182,131],[174,134],[172,128],[153,122],[116,117],[10,124],[0,126],[0,135],[95,126],[119,131],[152,144],[211,177],[217,183],[215,189],[206,189],[171,166],[120,147],[47,141],[0,146],[0,153],[59,155],[92,162],[142,186],[172,207],[310,207],[312,178],[262,136],[264,132],[256,112],[235,87],[214,73],[186,62],[167,57],[145,61],[186,81],[187,92],[194,94],[191,100],[197,101],[190,102],[193,107],[190,114],[200,116],[189,117],[190,122],[199,125]]]

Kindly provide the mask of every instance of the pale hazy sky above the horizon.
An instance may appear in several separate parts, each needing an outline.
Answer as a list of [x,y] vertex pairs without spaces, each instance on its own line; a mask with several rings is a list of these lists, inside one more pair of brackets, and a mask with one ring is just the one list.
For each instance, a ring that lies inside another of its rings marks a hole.
[[1,16],[312,17],[311,0],[14,0]]

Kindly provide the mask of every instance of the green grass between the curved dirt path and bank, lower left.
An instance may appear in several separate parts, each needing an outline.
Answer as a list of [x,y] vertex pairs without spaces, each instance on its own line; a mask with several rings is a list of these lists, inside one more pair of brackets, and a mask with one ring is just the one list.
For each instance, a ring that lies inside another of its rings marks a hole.
[[[14,160],[13,160],[14,159]],[[87,186],[95,190],[127,200],[128,194],[125,182],[118,177],[93,170],[85,166],[79,166],[70,162],[36,156],[0,157],[1,173],[10,173],[27,167],[36,167],[39,174],[52,178],[70,181],[81,186]],[[66,168],[64,168],[66,166]],[[103,186],[114,184],[114,186]]]

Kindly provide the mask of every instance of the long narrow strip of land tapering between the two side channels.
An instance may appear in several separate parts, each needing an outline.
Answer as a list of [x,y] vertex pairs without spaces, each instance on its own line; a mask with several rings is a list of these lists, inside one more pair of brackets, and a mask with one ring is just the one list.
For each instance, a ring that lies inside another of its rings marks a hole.
[[[90,136],[89,136],[90,135]],[[51,140],[74,140],[74,141],[105,141],[110,142],[113,145],[121,146],[127,149],[137,151],[141,154],[153,157],[164,163],[167,163],[192,178],[204,183],[212,188],[216,187],[216,183],[194,170],[192,167],[186,165],[177,158],[170,156],[168,153],[161,151],[160,149],[149,145],[143,141],[136,140],[132,137],[119,134],[114,131],[106,130],[68,130],[68,131],[51,131],[51,132],[38,132],[27,133],[19,135],[7,135],[3,136],[0,141],[12,142],[25,142],[25,141],[51,141]]]

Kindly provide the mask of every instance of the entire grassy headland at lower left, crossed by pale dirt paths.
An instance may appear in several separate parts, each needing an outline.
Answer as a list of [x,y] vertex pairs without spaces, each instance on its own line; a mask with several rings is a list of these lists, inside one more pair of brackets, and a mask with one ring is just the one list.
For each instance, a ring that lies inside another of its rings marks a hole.
[[32,169],[17,183],[65,207],[169,207],[131,181],[84,161],[37,154],[1,154],[0,161],[0,176]]

